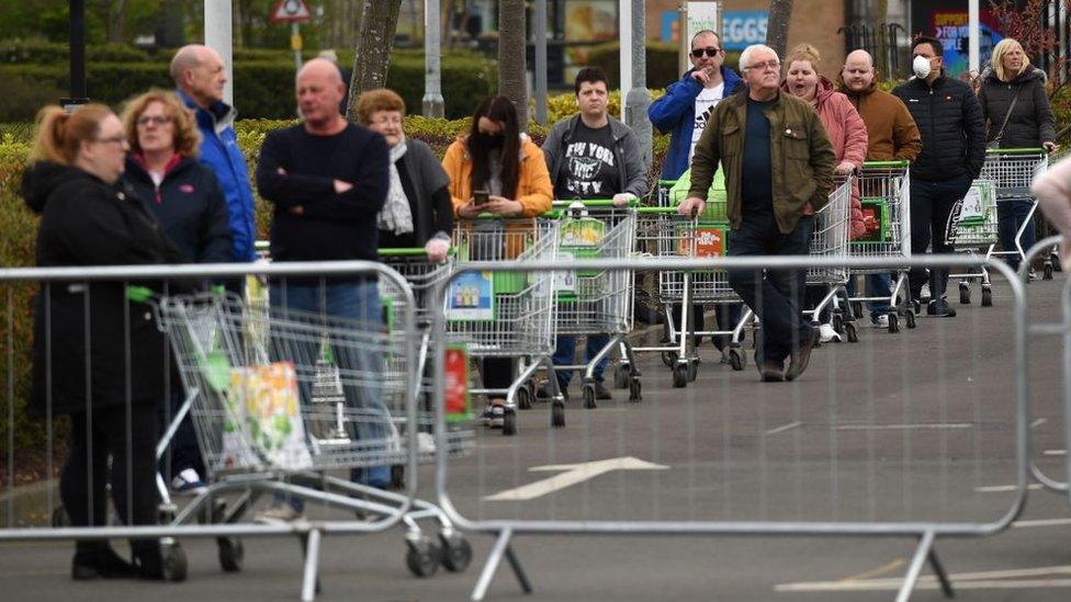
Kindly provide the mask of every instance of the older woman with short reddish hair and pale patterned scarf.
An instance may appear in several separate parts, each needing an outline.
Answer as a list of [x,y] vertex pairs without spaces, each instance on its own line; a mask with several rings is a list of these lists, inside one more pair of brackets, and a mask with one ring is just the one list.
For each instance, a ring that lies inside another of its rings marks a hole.
[[447,259],[453,231],[450,179],[433,152],[406,138],[405,101],[386,89],[357,100],[357,123],[377,132],[391,147],[391,189],[380,212],[380,248],[424,247],[431,261]]

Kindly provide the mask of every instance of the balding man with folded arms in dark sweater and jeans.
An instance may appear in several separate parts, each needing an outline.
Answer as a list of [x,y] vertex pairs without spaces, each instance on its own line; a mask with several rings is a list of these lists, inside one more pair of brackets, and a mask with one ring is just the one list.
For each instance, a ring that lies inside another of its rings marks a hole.
[[[390,151],[382,135],[350,123],[339,113],[346,90],[338,68],[315,58],[297,73],[296,95],[302,123],[268,134],[257,162],[257,188],[274,204],[271,220],[271,255],[274,262],[379,260],[377,216],[386,202]],[[271,283],[272,311],[285,318],[288,310],[343,318],[348,336],[368,337],[368,349],[335,345],[335,363],[343,377],[342,394],[351,417],[351,440],[385,439],[390,419],[382,411],[380,388],[383,306],[374,275],[289,277]],[[300,352],[301,361],[320,355],[319,344],[284,343]],[[279,357],[294,359],[294,357]],[[357,382],[354,382],[357,378]],[[308,398],[308,385],[303,384]],[[354,418],[359,417],[359,420]],[[382,421],[377,417],[383,418]],[[391,484],[390,466],[354,469],[352,478],[373,487]],[[277,502],[281,500],[277,499]],[[300,500],[277,503],[258,518],[280,521],[297,518]]]

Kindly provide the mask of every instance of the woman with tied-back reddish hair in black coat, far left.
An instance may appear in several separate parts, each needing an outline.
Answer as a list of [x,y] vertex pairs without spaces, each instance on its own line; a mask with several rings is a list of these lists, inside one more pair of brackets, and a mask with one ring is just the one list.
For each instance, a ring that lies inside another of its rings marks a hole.
[[[123,124],[103,104],[41,112],[22,180],[23,198],[41,214],[37,265],[179,260],[144,203],[117,185],[126,149]],[[127,300],[124,283],[42,284],[27,409],[70,416],[59,492],[74,526],[108,524],[108,484],[126,524],[156,523],[156,402],[166,352],[151,308]],[[76,542],[71,577],[164,579],[159,542],[138,539],[131,547],[135,564],[106,541]]]

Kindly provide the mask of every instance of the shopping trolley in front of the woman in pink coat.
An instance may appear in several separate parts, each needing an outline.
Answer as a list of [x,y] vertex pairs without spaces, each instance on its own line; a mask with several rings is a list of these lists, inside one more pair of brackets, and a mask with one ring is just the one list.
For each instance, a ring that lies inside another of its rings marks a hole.
[[[811,236],[811,257],[843,258],[848,257],[849,220],[852,218],[852,182],[854,177],[837,178],[830,202],[814,213],[814,232]],[[848,342],[859,341],[859,331],[852,319],[848,308],[848,269],[844,265],[830,268],[809,268],[807,271],[808,286],[825,286],[826,294],[814,308],[803,311],[812,322],[819,321],[819,316],[826,307],[833,311],[833,329],[844,333]],[[842,302],[844,305],[842,306]]]

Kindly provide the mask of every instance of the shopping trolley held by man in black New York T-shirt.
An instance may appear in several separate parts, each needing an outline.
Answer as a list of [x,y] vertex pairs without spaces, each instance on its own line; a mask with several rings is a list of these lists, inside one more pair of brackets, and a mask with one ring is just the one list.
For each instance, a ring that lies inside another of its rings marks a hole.
[[[559,259],[627,259],[635,240],[635,208],[616,207],[611,201],[555,201],[562,212],[559,226]],[[615,368],[616,383],[629,387],[629,400],[640,401],[642,391],[640,371],[627,336],[632,330],[632,272],[624,270],[577,271],[561,273],[555,282],[557,336],[607,334],[607,343],[584,364],[554,365],[557,371],[584,371],[584,407],[597,407],[595,399],[595,367],[615,348],[620,349],[621,362]],[[564,401],[557,378],[548,378],[551,396]],[[565,425],[564,404],[552,405],[552,423]]]

